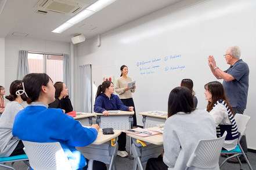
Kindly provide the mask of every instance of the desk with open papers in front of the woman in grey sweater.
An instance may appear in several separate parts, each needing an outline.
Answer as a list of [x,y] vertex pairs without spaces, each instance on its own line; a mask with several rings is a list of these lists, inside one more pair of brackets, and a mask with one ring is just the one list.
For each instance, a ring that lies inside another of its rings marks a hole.
[[[154,127],[159,129],[159,127]],[[150,128],[148,128],[150,130]],[[143,165],[146,164],[149,158],[157,158],[163,152],[163,134],[141,137],[133,134],[128,134],[132,138],[132,154],[134,155],[134,170],[143,170]],[[142,143],[138,143],[137,139],[143,141],[146,146],[142,146]]]

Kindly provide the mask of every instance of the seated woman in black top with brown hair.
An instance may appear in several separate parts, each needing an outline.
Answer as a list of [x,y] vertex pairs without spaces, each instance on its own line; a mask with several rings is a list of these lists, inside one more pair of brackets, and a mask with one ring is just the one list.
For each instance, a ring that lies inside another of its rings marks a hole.
[[49,108],[60,108],[64,113],[72,112],[73,106],[68,98],[68,89],[63,82],[56,82],[55,87],[55,101],[49,104]]

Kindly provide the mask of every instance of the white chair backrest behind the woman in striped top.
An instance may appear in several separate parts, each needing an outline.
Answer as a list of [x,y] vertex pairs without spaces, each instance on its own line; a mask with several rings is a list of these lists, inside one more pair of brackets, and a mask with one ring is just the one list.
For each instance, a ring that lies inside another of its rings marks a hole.
[[237,130],[241,135],[245,134],[247,123],[250,118],[251,118],[250,116],[236,113],[235,120],[236,120]]

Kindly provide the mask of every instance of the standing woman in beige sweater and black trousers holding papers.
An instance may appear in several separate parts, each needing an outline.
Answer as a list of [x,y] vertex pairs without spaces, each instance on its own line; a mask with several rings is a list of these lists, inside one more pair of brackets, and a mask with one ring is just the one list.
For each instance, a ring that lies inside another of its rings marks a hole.
[[117,79],[116,82],[116,93],[119,94],[119,98],[121,99],[122,103],[125,106],[133,106],[134,107],[134,115],[132,115],[134,119],[134,125],[137,125],[136,120],[136,112],[135,112],[135,106],[134,106],[134,100],[132,99],[132,93],[135,92],[136,86],[134,86],[134,89],[129,89],[127,87],[129,82],[132,82],[131,77],[128,77],[128,67],[126,65],[122,65],[120,68],[121,76]]

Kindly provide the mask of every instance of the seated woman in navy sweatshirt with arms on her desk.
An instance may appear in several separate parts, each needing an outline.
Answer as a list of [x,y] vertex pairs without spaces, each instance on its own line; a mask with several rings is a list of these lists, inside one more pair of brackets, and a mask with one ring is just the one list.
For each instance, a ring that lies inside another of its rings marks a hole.
[[[104,116],[109,116],[109,112],[107,110],[125,110],[132,111],[134,107],[128,107],[122,104],[120,98],[117,95],[114,95],[114,85],[110,81],[104,81],[99,85],[95,105],[94,112],[95,113],[103,113]],[[125,151],[126,146],[126,134],[122,132],[118,136],[118,151],[117,155],[121,157],[127,157],[128,153]]]

